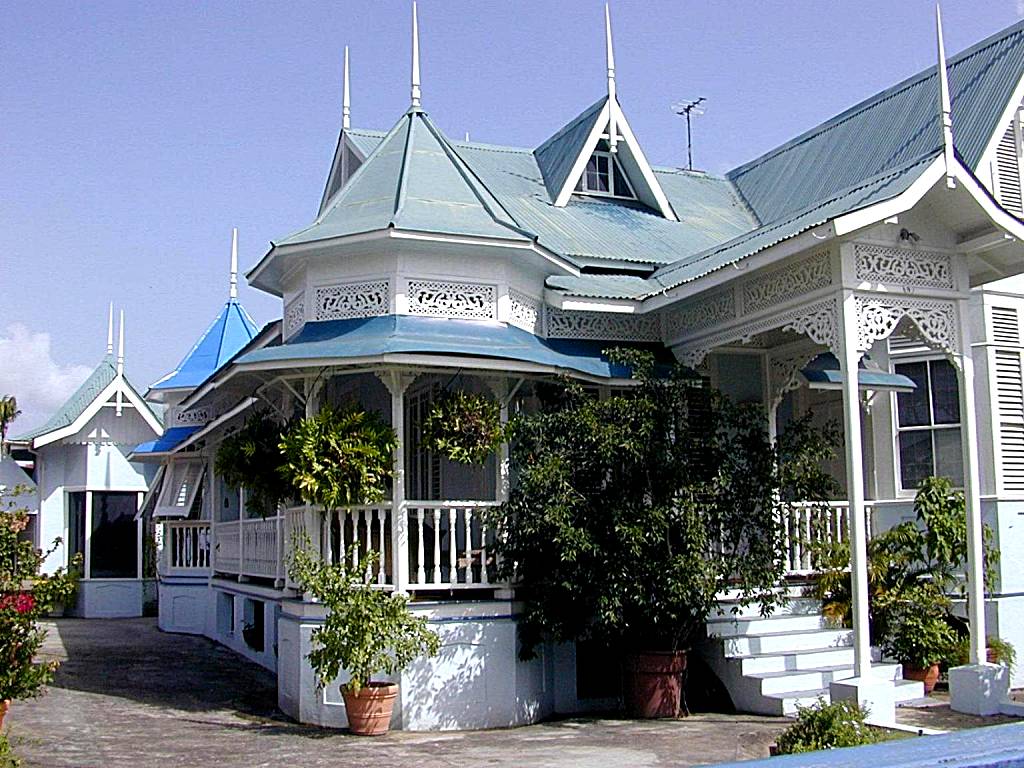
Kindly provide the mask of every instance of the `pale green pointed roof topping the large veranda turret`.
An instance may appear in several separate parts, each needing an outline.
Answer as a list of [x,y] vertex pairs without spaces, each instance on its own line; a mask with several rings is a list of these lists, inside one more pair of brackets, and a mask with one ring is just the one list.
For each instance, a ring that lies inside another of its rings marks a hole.
[[311,225],[275,245],[387,228],[532,239],[418,108],[401,116]]

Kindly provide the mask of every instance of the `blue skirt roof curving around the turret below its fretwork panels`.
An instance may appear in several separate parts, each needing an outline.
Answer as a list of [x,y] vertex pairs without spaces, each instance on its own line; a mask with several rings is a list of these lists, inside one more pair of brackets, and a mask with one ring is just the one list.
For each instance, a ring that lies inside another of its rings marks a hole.
[[[370,357],[383,354],[471,355],[520,360],[571,370],[603,378],[628,375],[612,366],[602,351],[635,346],[615,341],[542,339],[503,323],[386,315],[358,319],[307,323],[287,344],[263,347],[240,356],[239,365],[301,362]],[[643,345],[659,348],[660,345]]]

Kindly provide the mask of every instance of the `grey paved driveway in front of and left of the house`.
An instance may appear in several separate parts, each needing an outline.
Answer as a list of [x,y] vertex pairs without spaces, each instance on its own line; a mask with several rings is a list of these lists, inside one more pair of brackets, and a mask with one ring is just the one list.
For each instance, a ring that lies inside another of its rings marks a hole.
[[786,725],[699,715],[368,739],[292,723],[276,712],[267,672],[154,620],[60,620],[45,652],[63,660],[55,684],[7,718],[18,754],[40,768],[690,766],[765,757]]

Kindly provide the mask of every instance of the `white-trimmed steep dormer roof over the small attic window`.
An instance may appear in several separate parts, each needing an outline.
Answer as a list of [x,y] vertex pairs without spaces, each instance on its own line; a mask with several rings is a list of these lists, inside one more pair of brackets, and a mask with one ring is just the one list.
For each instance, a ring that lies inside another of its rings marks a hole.
[[589,106],[534,152],[552,203],[559,208],[568,204],[598,142],[608,137],[611,124],[617,136],[615,158],[637,200],[670,221],[678,221],[618,101],[606,97]]

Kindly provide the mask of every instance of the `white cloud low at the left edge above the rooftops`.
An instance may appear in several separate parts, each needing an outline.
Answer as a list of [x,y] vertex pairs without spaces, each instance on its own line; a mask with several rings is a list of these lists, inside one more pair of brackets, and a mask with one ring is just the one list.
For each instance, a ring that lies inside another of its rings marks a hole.
[[20,323],[0,334],[0,395],[17,397],[22,415],[10,426],[17,435],[45,422],[86,380],[92,369],[61,366],[53,359],[50,335]]

